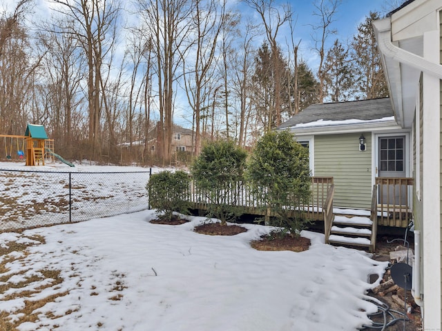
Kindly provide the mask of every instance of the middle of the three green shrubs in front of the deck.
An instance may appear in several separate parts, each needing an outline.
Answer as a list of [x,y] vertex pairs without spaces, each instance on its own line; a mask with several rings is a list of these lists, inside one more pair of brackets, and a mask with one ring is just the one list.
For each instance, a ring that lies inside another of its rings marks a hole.
[[247,152],[233,141],[214,141],[203,146],[191,166],[195,188],[207,201],[208,217],[224,225],[242,214],[236,206],[243,180]]

